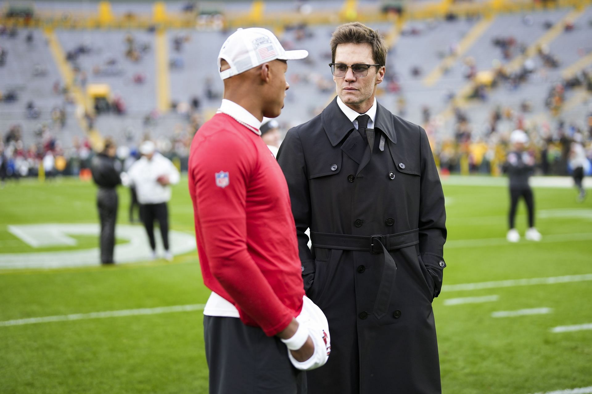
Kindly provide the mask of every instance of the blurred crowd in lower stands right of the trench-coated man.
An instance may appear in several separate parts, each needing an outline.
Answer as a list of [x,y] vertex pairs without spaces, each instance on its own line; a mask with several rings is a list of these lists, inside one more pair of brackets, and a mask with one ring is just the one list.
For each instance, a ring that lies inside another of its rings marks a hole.
[[[529,136],[527,151],[536,159],[536,170],[542,175],[571,174],[570,150],[573,142],[581,144],[592,162],[592,105],[584,122],[548,122],[525,119],[524,113],[498,106],[491,112],[485,130],[475,130],[468,115],[457,108],[455,135],[441,138],[438,125],[432,120],[425,125],[436,163],[443,174],[500,175],[510,150],[510,133],[524,130]],[[584,170],[590,174],[592,165]]]

